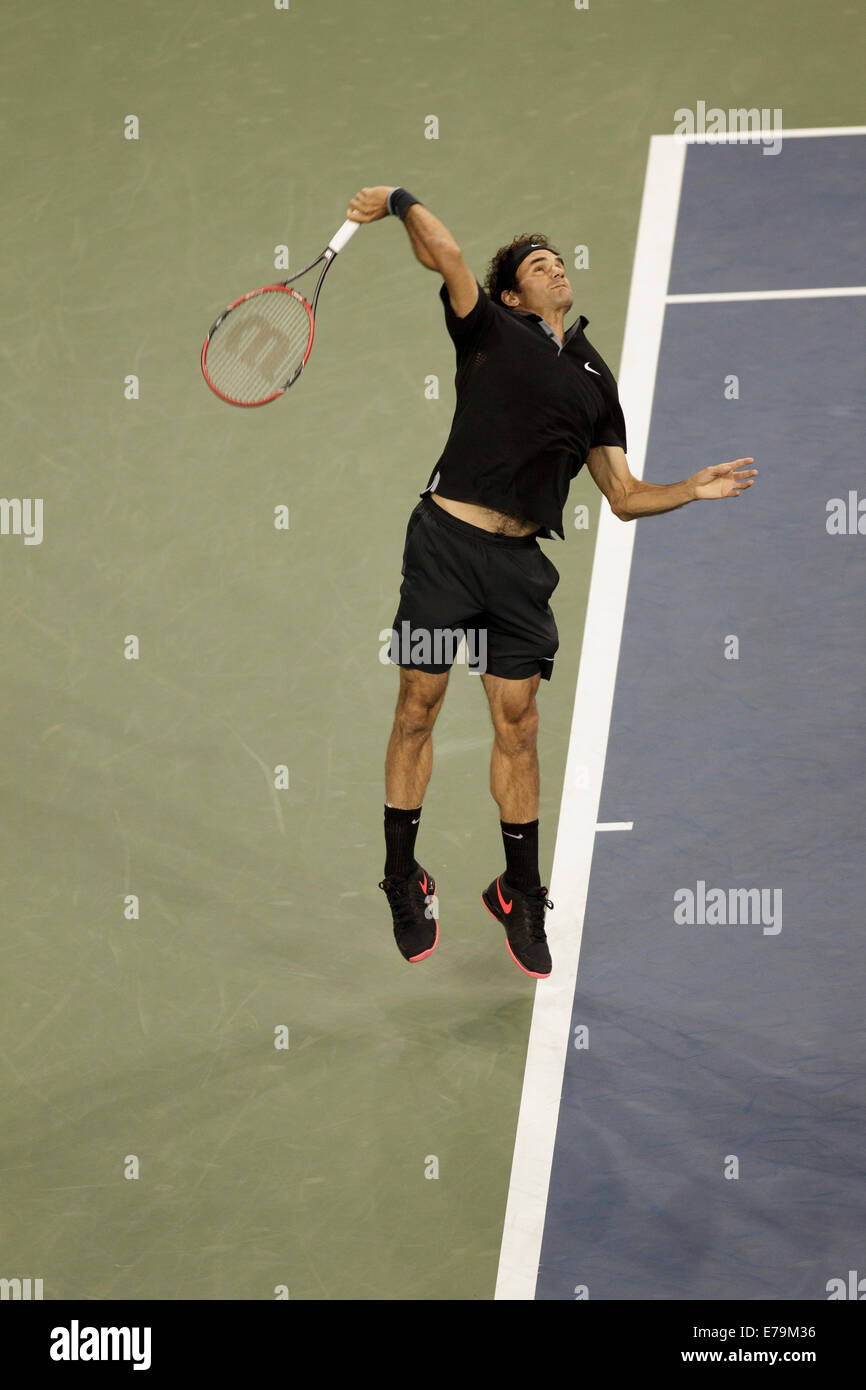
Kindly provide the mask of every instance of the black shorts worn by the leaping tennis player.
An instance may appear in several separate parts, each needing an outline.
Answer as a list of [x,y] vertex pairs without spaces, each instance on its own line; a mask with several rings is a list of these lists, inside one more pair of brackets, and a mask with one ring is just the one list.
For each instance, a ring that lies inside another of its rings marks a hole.
[[470,671],[550,680],[559,646],[550,595],[559,571],[534,535],[482,531],[431,496],[406,528],[400,606],[391,631],[396,666],[441,674],[460,655]]

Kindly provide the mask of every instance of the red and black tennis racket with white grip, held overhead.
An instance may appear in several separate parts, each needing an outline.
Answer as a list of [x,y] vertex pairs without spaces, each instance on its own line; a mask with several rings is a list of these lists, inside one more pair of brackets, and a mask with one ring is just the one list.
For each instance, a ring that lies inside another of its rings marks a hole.
[[[250,291],[211,324],[202,349],[202,371],[221,400],[228,400],[229,406],[264,406],[297,381],[313,350],[316,306],[324,278],[360,225],[343,222],[309,265],[281,285]],[[322,261],[309,303],[293,285]]]

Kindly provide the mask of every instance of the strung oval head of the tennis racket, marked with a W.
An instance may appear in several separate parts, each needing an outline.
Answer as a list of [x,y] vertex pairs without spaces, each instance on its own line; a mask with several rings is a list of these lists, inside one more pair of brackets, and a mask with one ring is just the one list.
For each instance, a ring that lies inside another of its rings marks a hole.
[[264,289],[214,328],[204,366],[220,395],[254,404],[282,391],[300,371],[311,341],[304,300],[285,289]]

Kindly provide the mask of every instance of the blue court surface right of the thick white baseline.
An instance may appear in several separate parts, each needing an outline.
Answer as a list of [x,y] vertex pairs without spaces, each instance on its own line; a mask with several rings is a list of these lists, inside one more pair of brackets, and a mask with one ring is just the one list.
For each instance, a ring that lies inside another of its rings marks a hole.
[[863,135],[685,153],[644,478],[759,477],[635,525],[537,1298],[863,1264]]

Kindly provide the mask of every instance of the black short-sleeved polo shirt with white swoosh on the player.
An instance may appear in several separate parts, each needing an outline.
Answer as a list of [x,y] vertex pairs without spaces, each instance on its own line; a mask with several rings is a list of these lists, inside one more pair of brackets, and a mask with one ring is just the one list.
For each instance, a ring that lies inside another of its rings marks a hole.
[[457,350],[457,406],[448,442],[421,493],[537,521],[563,537],[571,478],[589,449],[626,449],[626,421],[610,368],[584,336],[582,316],[560,348],[538,314],[478,302],[457,318],[439,295]]

